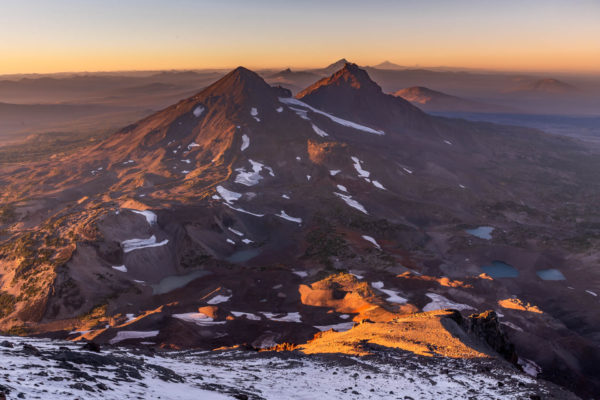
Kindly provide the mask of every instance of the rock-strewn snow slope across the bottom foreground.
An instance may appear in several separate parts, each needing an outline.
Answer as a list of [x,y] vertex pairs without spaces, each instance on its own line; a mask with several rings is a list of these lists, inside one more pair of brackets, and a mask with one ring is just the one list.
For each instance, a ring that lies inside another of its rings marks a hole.
[[0,342],[1,390],[10,399],[576,398],[494,359],[399,351],[375,351],[368,357],[238,350],[154,353],[144,346],[96,353],[47,339],[6,337]]

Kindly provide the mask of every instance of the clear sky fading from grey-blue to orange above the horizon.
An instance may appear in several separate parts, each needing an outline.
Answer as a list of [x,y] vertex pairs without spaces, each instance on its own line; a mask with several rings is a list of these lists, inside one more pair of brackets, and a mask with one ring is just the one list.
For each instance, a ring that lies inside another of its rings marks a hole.
[[600,72],[599,0],[0,0],[0,74],[361,65]]

